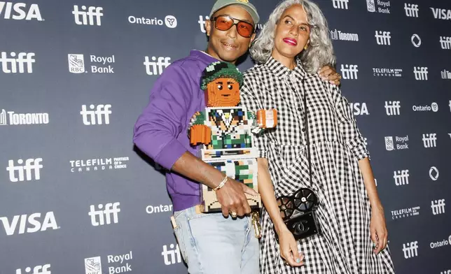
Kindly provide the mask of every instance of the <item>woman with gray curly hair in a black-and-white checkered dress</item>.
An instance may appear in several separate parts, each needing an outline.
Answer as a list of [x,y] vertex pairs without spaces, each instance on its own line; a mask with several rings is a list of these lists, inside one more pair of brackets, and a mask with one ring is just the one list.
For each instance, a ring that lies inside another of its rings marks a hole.
[[[251,56],[259,64],[244,73],[242,103],[249,110],[278,111],[277,128],[254,138],[260,157],[258,189],[265,205],[261,273],[394,273],[363,138],[340,89],[314,73],[324,64],[335,64],[321,10],[307,0],[280,3]],[[322,233],[296,241],[276,197],[301,187],[318,196]]]

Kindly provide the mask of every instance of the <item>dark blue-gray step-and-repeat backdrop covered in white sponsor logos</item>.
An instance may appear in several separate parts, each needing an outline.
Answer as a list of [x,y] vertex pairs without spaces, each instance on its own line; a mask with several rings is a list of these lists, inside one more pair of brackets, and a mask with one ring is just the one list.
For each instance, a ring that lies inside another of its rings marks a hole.
[[[277,3],[254,2],[263,21]],[[318,3],[396,273],[449,274],[451,2]],[[0,1],[0,273],[186,273],[164,171],[132,129],[158,75],[206,48],[212,5]]]

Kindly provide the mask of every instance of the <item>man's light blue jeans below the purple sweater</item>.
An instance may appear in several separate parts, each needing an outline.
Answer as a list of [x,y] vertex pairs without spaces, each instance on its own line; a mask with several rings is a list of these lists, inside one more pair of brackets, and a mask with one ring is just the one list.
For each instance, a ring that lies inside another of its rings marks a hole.
[[174,212],[174,233],[190,274],[259,274],[258,239],[251,217]]

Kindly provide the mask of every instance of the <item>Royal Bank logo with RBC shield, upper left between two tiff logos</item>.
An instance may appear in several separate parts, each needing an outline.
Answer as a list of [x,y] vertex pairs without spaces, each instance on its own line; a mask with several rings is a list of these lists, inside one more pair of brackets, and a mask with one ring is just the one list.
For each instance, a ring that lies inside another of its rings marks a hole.
[[[113,64],[116,62],[114,55],[97,56],[90,55],[90,72],[91,73],[114,73]],[[85,56],[70,53],[67,55],[69,63],[69,72],[71,73],[88,73],[85,69]]]

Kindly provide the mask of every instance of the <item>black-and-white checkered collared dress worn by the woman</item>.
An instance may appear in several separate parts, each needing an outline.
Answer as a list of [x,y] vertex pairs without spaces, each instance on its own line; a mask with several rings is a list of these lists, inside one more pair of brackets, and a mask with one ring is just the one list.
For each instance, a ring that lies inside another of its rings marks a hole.
[[[370,203],[358,160],[369,157],[349,103],[340,89],[301,66],[290,71],[270,58],[244,73],[242,104],[277,109],[277,128],[253,137],[269,162],[276,196],[309,187],[318,196],[322,235],[300,240],[305,266],[291,268],[279,256],[273,224],[263,210],[261,273],[394,273],[388,247],[375,255],[370,239]],[[309,178],[303,94],[307,96],[312,182]]]

